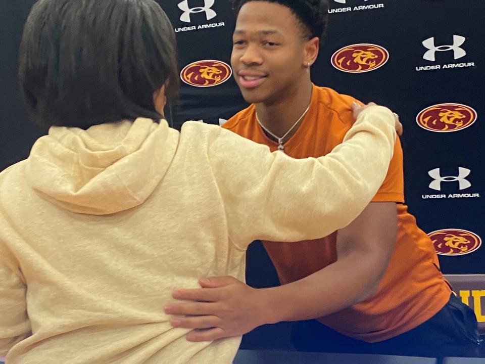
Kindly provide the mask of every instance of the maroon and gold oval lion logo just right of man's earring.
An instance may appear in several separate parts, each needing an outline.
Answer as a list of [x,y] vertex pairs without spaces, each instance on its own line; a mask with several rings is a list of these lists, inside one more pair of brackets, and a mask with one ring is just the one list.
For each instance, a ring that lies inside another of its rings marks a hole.
[[389,60],[389,52],[375,44],[353,44],[341,48],[332,56],[332,65],[344,72],[374,71]]

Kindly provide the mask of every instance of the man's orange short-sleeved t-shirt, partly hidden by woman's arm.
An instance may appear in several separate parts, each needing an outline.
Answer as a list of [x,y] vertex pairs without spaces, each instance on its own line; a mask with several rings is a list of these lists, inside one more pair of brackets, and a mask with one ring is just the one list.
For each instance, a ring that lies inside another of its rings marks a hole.
[[[310,109],[299,129],[284,145],[294,158],[320,157],[341,144],[354,118],[355,99],[334,90],[313,86]],[[267,145],[255,117],[255,106],[237,113],[224,128]],[[372,200],[396,202],[398,239],[377,293],[354,306],[321,317],[319,321],[352,338],[379,342],[405,333],[430,319],[451,294],[439,270],[438,256],[428,236],[416,225],[404,203],[403,152],[399,140],[385,180]],[[314,241],[263,242],[281,284],[297,281],[336,261],[336,233]]]

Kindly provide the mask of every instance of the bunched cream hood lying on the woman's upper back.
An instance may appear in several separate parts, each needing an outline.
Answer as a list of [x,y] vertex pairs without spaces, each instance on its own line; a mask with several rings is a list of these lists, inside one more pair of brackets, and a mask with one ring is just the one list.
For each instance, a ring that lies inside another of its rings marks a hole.
[[25,170],[32,189],[72,212],[107,215],[145,202],[173,160],[178,131],[151,119],[51,127],[32,147]]

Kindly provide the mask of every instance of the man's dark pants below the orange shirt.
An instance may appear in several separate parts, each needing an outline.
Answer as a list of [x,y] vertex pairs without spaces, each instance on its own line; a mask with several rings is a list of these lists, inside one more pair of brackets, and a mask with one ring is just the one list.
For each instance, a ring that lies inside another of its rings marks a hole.
[[297,350],[424,357],[479,356],[475,313],[451,295],[437,314],[418,327],[378,343],[351,339],[315,320],[295,324],[292,342]]

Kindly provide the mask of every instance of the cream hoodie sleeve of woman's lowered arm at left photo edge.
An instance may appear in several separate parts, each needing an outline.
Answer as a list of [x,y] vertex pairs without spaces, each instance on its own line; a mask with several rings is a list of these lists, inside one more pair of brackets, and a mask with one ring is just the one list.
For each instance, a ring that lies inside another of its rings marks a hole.
[[15,344],[30,336],[31,328],[20,268],[1,246],[0,254],[0,356],[5,356]]

